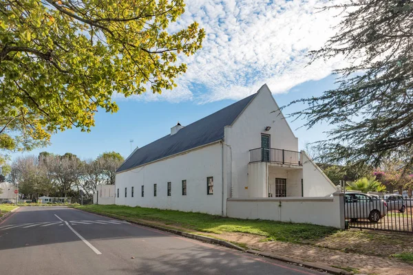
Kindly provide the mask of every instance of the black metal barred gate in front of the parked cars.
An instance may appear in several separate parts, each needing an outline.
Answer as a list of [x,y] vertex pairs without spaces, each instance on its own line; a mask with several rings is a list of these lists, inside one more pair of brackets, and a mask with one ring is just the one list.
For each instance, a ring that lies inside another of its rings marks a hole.
[[346,192],[344,216],[350,228],[413,233],[412,197]]

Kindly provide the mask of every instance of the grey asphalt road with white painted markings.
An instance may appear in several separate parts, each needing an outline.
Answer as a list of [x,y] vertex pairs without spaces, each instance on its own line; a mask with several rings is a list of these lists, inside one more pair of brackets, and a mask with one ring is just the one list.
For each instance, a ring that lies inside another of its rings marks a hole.
[[0,274],[323,274],[63,207],[0,223]]

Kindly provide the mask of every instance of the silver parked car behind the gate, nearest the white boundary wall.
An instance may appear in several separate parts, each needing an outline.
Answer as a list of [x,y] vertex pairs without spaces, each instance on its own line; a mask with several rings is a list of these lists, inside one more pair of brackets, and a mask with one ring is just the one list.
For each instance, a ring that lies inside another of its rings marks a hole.
[[388,213],[387,203],[361,192],[346,192],[346,219],[368,219],[377,223]]

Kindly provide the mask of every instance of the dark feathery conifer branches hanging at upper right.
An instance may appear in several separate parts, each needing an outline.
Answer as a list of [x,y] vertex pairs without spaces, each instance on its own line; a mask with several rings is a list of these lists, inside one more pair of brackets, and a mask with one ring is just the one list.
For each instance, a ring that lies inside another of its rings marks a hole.
[[328,9],[343,12],[343,20],[310,56],[343,56],[349,65],[335,70],[337,89],[295,101],[308,107],[293,115],[306,118],[308,128],[334,127],[319,143],[325,163],[378,167],[398,157],[412,167],[413,1],[352,0]]

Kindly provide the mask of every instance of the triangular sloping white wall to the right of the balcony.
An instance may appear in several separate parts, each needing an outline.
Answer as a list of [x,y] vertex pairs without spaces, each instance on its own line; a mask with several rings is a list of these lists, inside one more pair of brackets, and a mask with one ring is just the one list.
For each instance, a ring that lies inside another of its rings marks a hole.
[[303,160],[304,197],[327,196],[337,191],[335,185],[306,152],[301,151],[301,158]]

